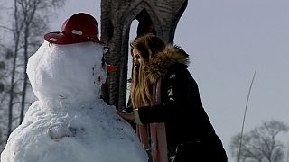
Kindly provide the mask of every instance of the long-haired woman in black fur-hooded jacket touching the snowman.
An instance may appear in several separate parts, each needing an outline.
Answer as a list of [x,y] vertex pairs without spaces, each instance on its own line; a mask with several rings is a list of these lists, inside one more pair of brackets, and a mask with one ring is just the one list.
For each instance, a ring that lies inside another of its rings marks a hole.
[[131,51],[134,112],[117,113],[136,123],[154,161],[163,161],[160,154],[165,152],[164,161],[227,162],[222,142],[202,107],[198,85],[187,70],[189,55],[153,34],[136,38]]

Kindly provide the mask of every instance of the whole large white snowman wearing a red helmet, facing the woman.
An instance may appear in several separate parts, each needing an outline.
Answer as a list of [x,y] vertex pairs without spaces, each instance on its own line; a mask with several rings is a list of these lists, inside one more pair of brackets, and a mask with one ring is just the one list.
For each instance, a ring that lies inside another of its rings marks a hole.
[[1,162],[144,162],[128,122],[100,98],[107,47],[90,14],[73,14],[44,36],[27,74],[38,98],[10,135]]

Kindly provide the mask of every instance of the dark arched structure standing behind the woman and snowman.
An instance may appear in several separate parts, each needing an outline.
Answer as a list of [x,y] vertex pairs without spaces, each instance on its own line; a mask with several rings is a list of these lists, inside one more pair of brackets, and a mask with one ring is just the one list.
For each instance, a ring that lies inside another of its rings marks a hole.
[[117,69],[107,76],[104,100],[117,109],[126,106],[128,41],[131,23],[139,24],[137,35],[152,32],[164,42],[173,42],[176,26],[188,0],[102,0],[101,40],[110,48],[107,63]]

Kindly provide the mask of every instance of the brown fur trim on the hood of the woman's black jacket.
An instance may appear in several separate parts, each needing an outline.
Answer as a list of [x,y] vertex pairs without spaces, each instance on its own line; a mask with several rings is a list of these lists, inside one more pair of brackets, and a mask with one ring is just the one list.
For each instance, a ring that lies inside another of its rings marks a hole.
[[189,67],[189,55],[179,46],[166,45],[162,52],[157,53],[144,67],[151,83],[167,75],[169,67],[173,64],[183,64]]

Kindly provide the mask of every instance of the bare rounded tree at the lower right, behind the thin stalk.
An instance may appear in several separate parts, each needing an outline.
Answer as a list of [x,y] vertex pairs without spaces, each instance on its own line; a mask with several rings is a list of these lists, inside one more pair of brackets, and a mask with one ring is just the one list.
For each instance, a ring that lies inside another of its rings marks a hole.
[[261,126],[243,135],[243,144],[240,148],[241,136],[238,134],[230,142],[232,156],[238,157],[240,154],[242,162],[283,162],[285,148],[276,137],[288,129],[289,127],[281,121],[263,122]]

